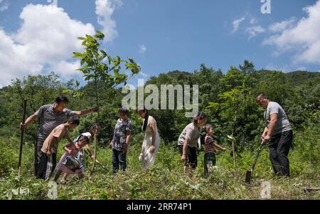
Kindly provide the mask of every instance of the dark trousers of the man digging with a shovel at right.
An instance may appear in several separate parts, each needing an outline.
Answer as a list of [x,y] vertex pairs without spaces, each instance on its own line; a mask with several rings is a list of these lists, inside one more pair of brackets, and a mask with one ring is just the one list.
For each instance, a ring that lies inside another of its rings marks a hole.
[[292,141],[293,132],[290,130],[272,137],[268,144],[270,161],[276,175],[290,176],[288,154]]

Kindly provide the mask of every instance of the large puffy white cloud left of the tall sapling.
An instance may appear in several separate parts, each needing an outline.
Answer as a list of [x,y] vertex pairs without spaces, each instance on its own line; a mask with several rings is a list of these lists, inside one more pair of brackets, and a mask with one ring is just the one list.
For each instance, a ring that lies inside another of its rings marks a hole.
[[20,18],[21,28],[13,34],[0,28],[0,87],[16,77],[46,70],[56,70],[62,78],[70,76],[79,64],[68,61],[74,51],[82,51],[77,37],[95,33],[92,24],[70,18],[62,8],[41,4],[28,4]]

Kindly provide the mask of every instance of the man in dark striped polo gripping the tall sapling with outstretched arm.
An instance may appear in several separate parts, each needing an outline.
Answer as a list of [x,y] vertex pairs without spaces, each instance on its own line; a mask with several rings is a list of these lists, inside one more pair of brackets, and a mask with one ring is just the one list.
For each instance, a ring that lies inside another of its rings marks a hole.
[[26,119],[24,124],[22,122],[20,124],[20,128],[24,129],[26,125],[31,124],[31,122],[37,118],[39,119],[39,129],[37,133],[34,154],[34,176],[38,175],[38,164],[40,162],[41,148],[43,146],[43,142],[46,140],[50,132],[55,127],[58,127],[58,125],[63,124],[63,122],[65,122],[70,116],[75,115],[81,117],[85,114],[99,111],[99,107],[81,111],[71,111],[70,109],[65,108],[68,105],[68,102],[69,101],[67,97],[60,95],[55,99],[55,103],[53,105],[41,106],[38,111]]

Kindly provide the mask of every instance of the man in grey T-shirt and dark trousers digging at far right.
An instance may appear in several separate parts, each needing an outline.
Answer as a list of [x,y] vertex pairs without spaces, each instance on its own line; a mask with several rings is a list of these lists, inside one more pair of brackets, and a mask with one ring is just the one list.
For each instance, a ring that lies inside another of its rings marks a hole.
[[265,109],[265,130],[261,139],[268,143],[274,173],[289,177],[288,154],[292,146],[293,132],[287,114],[277,102],[271,102],[262,93],[257,95],[256,102]]

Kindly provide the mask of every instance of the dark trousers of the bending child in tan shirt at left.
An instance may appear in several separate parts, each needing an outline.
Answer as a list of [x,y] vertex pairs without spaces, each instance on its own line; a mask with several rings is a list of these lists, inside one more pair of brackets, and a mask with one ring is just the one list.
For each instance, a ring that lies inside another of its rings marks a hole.
[[[49,166],[50,164],[52,164],[52,167]],[[41,151],[37,178],[42,178],[43,180],[49,179],[53,171],[55,170],[56,165],[57,165],[57,154],[53,153],[51,154],[50,157],[48,157],[46,153],[43,153]]]

